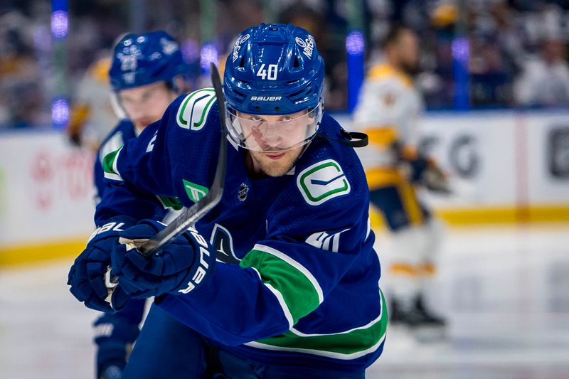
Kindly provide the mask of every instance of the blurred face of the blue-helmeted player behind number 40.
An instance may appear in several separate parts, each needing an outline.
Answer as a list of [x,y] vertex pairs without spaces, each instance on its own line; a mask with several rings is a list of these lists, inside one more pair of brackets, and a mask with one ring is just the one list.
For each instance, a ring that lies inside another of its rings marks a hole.
[[119,101],[137,129],[159,120],[166,107],[176,98],[176,93],[165,82],[156,82],[122,90]]

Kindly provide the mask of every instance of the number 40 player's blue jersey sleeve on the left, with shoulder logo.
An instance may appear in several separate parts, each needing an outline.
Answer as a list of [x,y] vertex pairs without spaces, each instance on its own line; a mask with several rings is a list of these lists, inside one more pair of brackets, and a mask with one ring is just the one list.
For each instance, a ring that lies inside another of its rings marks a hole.
[[164,201],[190,206],[184,183],[207,187],[215,175],[220,128],[215,92],[182,95],[162,118],[137,138],[107,154],[102,168],[107,183],[95,210],[95,223],[115,215],[137,220],[164,214]]

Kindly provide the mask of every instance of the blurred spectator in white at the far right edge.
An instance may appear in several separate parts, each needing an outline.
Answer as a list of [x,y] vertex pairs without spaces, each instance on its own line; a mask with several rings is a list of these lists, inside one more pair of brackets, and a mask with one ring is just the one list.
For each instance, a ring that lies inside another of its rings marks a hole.
[[558,38],[541,43],[539,54],[527,60],[516,78],[514,95],[519,105],[569,105],[567,46]]

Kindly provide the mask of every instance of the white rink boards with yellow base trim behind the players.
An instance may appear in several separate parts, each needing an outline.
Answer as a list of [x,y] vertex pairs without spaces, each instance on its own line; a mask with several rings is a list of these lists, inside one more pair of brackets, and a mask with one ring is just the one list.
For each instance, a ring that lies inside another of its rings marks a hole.
[[[421,193],[447,224],[569,221],[568,111],[436,112],[418,128],[453,173],[451,196]],[[77,255],[93,229],[93,154],[57,132],[3,132],[0,158],[0,266]]]

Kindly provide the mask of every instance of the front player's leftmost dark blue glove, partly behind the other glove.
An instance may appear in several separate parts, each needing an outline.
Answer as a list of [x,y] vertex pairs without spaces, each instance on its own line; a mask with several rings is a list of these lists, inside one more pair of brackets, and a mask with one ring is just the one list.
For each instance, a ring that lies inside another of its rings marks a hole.
[[69,270],[67,284],[70,292],[85,306],[97,311],[111,312],[121,309],[127,304],[129,297],[120,287],[115,288],[112,294],[112,309],[105,301],[108,295],[105,287],[105,273],[111,262],[111,251],[117,245],[119,233],[130,225],[136,223],[134,218],[121,216],[112,218],[108,223],[97,228],[92,233],[87,247],[75,259]]

